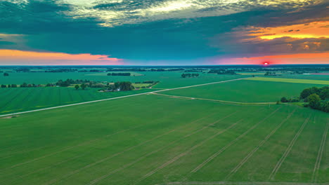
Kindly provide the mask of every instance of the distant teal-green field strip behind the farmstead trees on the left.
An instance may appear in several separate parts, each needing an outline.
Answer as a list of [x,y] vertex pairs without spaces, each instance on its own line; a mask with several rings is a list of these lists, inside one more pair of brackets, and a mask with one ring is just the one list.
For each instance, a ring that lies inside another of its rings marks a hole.
[[181,86],[195,85],[201,83],[209,83],[214,81],[225,81],[234,78],[248,77],[247,75],[217,75],[217,74],[203,74],[200,73],[198,78],[181,78],[181,72],[164,71],[164,72],[138,72],[138,74],[144,74],[144,76],[105,76],[104,73],[10,73],[9,76],[0,75],[0,84],[22,84],[22,83],[34,83],[34,84],[46,84],[55,83],[58,80],[65,80],[72,78],[74,80],[90,80],[90,81],[131,81],[131,82],[143,82],[143,81],[160,81],[156,85],[157,88],[177,88]]

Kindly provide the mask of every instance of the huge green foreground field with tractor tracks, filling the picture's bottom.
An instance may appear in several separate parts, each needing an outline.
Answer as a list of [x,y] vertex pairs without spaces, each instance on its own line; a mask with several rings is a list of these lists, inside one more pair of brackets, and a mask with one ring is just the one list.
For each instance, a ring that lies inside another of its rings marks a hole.
[[325,184],[328,124],[159,95],[22,114],[0,119],[0,184]]

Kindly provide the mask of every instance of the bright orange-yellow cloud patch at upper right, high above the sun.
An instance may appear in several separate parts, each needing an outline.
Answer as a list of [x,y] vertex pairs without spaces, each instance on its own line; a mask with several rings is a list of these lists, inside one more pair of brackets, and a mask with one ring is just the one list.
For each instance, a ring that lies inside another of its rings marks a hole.
[[329,38],[329,21],[282,27],[258,27],[250,31],[249,35],[257,36],[259,39],[276,39],[281,37],[296,39]]

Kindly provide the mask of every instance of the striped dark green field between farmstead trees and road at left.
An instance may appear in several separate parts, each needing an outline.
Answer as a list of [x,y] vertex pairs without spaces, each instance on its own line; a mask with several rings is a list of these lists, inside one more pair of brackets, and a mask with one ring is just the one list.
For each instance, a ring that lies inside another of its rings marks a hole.
[[43,109],[65,104],[88,102],[111,97],[146,93],[150,89],[126,92],[98,93],[98,88],[75,90],[75,88],[1,88],[0,114],[11,114],[18,111]]

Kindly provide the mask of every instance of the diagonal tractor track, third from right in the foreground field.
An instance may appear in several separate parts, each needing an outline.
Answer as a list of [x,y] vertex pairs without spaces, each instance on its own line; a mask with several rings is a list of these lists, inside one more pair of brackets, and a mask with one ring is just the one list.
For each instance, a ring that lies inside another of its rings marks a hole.
[[[297,109],[297,108],[296,108]],[[230,179],[234,174],[236,174],[236,172],[238,172],[238,170],[240,169],[240,167],[242,167],[247,160],[249,160],[249,158],[252,157],[252,155],[254,155],[254,153],[256,153],[256,151],[258,151],[258,149],[260,149],[266,142],[267,140],[276,133],[276,131],[281,128],[281,126],[289,120],[289,118],[292,116],[292,114],[295,113],[296,109],[294,109],[290,114],[288,114],[287,118],[283,119],[283,121],[276,126],[276,128],[274,128],[274,130],[272,130],[272,132],[269,133],[269,135],[266,135],[265,139],[262,140],[262,142],[260,142],[252,151],[250,151],[250,153],[247,154],[247,156],[245,156],[245,158],[243,158],[243,160],[241,160],[241,162],[234,167],[234,169],[225,177],[225,179]]]

